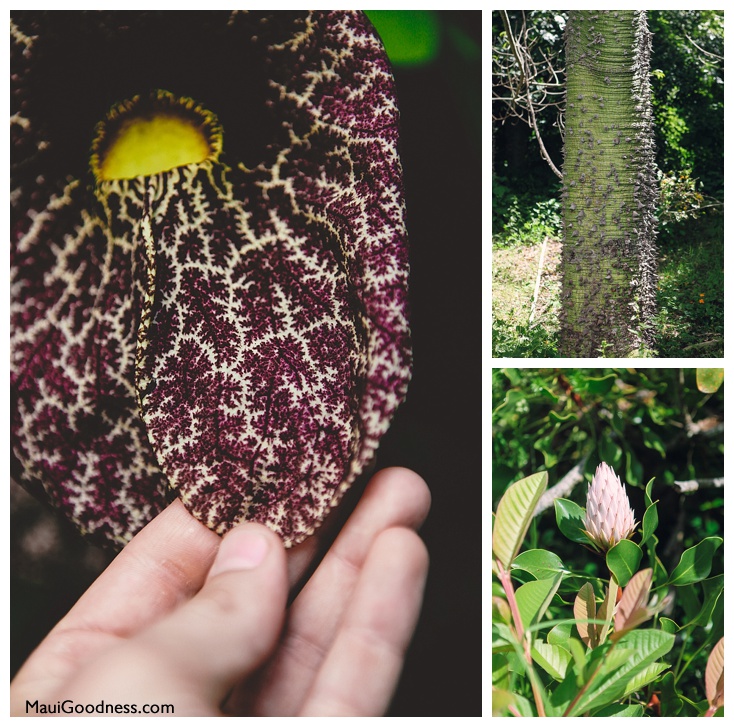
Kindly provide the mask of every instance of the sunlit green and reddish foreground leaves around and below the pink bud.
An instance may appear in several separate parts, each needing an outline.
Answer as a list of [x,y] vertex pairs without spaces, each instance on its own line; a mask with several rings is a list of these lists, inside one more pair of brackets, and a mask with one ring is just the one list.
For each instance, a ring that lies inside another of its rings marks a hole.
[[[612,575],[605,589],[602,579],[567,567],[551,551],[522,550],[547,482],[547,472],[515,482],[493,523],[493,713],[717,713],[723,706],[723,573],[711,573],[722,538],[704,538],[668,573],[656,553],[659,517],[650,481],[640,543],[623,540],[608,551]],[[570,505],[557,502],[558,528],[583,544],[577,522],[583,513]],[[643,546],[649,567],[639,570]],[[690,605],[697,600],[694,613]],[[673,611],[674,601],[691,604]]]

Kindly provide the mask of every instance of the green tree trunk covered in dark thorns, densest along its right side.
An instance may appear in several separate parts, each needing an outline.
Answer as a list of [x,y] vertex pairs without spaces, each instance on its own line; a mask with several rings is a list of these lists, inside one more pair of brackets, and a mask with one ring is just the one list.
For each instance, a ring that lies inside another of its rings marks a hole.
[[644,10],[569,11],[560,353],[652,349],[657,177]]

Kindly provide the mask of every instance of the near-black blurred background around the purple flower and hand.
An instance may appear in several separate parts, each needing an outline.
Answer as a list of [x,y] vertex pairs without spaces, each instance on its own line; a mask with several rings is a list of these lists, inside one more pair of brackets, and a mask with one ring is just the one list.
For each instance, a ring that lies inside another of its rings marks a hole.
[[[414,469],[433,505],[421,531],[431,558],[423,612],[390,715],[480,716],[482,14],[430,15],[437,54],[394,69],[415,365],[377,467]],[[11,503],[14,674],[111,555],[24,493]]]

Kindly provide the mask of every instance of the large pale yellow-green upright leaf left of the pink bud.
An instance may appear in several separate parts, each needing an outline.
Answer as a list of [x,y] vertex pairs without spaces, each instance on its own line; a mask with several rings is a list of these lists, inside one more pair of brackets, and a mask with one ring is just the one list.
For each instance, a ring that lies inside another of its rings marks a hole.
[[492,550],[505,570],[520,550],[535,506],[547,486],[548,473],[538,472],[510,485],[502,496],[492,531]]

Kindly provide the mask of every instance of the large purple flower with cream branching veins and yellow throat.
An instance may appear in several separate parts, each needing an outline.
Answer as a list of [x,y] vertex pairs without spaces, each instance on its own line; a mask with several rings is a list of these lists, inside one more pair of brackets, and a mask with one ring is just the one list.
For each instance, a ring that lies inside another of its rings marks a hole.
[[100,542],[175,496],[303,540],[410,375],[368,21],[14,13],[11,95],[14,475]]

